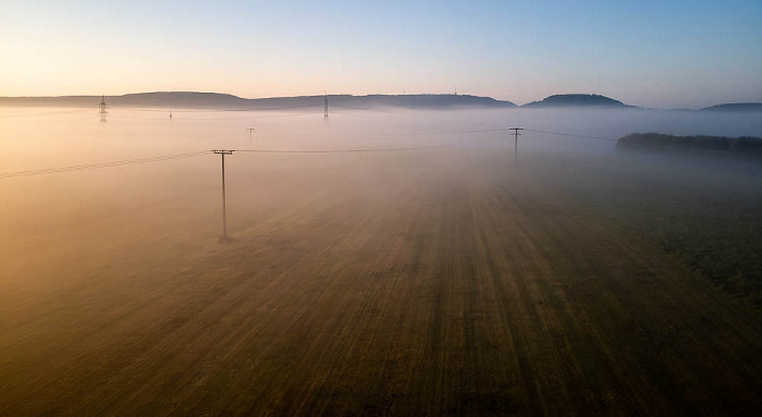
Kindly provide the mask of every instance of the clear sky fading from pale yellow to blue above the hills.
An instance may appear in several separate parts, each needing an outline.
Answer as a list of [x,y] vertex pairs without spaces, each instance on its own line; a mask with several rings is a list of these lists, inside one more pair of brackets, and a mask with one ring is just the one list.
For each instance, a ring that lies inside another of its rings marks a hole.
[[762,101],[762,1],[0,0],[0,96]]

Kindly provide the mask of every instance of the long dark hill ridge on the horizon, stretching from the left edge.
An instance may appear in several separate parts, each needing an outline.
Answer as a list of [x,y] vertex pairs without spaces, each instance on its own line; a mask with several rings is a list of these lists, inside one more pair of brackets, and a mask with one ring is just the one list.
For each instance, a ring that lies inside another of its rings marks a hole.
[[[247,99],[229,94],[195,91],[157,91],[106,96],[109,107],[143,108],[208,108],[208,109],[298,109],[322,107],[325,96],[273,97]],[[365,109],[374,107],[401,107],[408,109],[442,109],[459,107],[513,108],[511,101],[490,97],[468,95],[329,95],[329,107]],[[64,97],[0,97],[0,106],[28,107],[94,107],[100,103],[100,96]]]

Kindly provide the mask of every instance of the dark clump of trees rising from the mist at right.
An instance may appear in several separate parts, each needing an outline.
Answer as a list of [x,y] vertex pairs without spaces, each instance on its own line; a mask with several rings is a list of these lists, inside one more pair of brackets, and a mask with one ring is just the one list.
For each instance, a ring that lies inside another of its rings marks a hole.
[[616,142],[616,150],[648,150],[661,152],[722,152],[725,155],[762,157],[762,138],[741,136],[673,136],[660,133],[634,133]]

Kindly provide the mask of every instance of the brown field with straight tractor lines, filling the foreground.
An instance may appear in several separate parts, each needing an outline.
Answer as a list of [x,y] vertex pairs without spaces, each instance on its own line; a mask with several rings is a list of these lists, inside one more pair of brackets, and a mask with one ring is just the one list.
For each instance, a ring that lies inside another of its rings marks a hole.
[[760,409],[742,304],[502,148],[422,155],[231,180],[230,244],[202,228],[25,266],[0,299],[0,415]]

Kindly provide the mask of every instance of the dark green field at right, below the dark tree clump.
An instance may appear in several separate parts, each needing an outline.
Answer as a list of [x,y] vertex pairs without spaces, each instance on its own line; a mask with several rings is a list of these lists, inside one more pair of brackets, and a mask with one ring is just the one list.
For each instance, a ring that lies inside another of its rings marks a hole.
[[566,205],[653,243],[762,317],[760,161],[653,152],[538,158],[533,177]]

